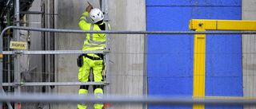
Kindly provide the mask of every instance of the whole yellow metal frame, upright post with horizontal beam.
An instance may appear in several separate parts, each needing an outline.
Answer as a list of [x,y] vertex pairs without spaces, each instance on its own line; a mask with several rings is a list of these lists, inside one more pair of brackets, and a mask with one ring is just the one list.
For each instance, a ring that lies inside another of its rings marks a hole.
[[[190,29],[206,30],[256,30],[256,21],[192,19]],[[248,97],[205,96],[206,34],[194,34],[194,80],[193,99],[248,99]],[[251,99],[255,99],[254,97]],[[203,104],[194,104],[194,109],[204,109]]]

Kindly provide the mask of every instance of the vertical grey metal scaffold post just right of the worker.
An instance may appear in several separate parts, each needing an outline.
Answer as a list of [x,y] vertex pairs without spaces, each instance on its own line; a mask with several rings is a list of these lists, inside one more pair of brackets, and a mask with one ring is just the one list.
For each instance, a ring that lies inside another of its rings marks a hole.
[[[105,19],[106,19],[106,30],[110,30],[108,23],[108,0],[105,1]],[[106,33],[106,82],[110,82],[110,41],[109,34]],[[105,94],[108,96],[110,94],[110,86],[106,85]],[[106,109],[110,107],[106,106]]]

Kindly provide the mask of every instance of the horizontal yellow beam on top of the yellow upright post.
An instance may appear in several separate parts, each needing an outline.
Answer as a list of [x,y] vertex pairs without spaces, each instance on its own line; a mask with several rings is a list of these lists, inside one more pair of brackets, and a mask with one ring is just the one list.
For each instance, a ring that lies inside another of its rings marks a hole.
[[200,28],[199,23],[204,25],[206,30],[256,30],[256,21],[241,20],[190,20],[190,29]]

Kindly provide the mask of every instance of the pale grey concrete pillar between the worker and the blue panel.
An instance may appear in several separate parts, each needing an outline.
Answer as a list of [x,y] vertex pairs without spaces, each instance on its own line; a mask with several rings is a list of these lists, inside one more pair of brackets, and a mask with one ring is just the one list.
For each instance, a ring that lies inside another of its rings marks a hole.
[[[109,1],[111,30],[146,30],[146,2]],[[112,94],[142,95],[144,35],[110,35],[110,90]],[[111,104],[110,104],[111,106]],[[112,105],[111,108],[142,109],[142,105]]]

